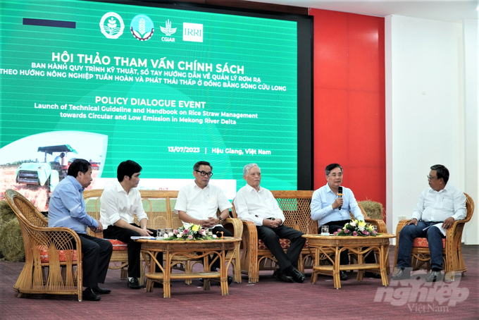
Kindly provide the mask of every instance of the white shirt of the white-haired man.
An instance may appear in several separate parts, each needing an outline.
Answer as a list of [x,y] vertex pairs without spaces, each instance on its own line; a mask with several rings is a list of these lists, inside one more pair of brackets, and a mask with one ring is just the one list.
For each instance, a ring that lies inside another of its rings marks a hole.
[[285,222],[285,215],[275,197],[270,190],[263,187],[256,191],[251,185],[245,185],[238,190],[234,203],[238,218],[252,221],[256,226],[263,226],[263,219],[268,218]]

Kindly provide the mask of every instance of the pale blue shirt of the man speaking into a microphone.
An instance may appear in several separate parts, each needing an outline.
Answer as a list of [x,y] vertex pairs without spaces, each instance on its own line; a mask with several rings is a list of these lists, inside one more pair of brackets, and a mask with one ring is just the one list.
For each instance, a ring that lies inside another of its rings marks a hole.
[[343,221],[351,219],[349,211],[352,212],[354,218],[364,220],[363,213],[354,198],[351,189],[342,187],[342,207],[332,209],[332,203],[337,199],[335,192],[332,192],[328,183],[313,192],[311,197],[311,219],[318,221],[318,226],[330,221]]

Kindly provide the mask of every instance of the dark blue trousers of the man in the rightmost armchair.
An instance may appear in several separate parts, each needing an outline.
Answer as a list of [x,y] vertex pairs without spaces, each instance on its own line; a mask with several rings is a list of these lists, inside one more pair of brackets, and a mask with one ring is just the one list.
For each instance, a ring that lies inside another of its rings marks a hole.
[[[397,248],[397,266],[409,268],[411,266],[411,251],[413,250],[413,241],[415,238],[427,238],[429,252],[431,255],[431,268],[442,270],[442,235],[439,228],[432,225],[437,222],[418,221],[418,225],[404,226],[399,233],[399,247]],[[432,226],[427,230],[424,228]]]

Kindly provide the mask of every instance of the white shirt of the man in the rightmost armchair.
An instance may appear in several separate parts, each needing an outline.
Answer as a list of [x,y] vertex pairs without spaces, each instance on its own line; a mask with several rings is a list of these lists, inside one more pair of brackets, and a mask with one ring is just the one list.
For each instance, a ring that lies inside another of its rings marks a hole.
[[454,185],[446,185],[439,192],[430,187],[423,190],[411,219],[442,222],[450,216],[454,220],[466,218],[466,196]]

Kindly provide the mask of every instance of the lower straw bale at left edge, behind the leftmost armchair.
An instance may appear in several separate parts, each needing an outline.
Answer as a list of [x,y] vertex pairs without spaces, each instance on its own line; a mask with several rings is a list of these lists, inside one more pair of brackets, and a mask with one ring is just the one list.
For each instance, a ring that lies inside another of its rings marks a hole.
[[25,261],[22,231],[16,218],[4,223],[0,231],[0,252],[7,261]]

